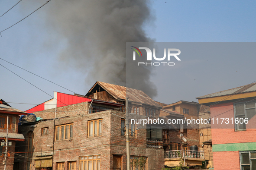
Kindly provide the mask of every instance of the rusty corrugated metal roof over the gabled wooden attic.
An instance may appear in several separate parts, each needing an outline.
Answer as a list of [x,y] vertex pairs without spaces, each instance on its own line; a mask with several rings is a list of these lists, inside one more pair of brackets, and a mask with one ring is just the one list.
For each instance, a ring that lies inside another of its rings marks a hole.
[[153,101],[152,98],[150,98],[141,90],[126,88],[124,86],[113,85],[105,82],[96,82],[94,86],[88,91],[88,93],[91,93],[97,84],[100,85],[100,87],[104,88],[104,90],[112,95],[116,100],[125,100],[127,94],[127,97],[129,97],[129,101],[141,104],[148,104],[155,107],[161,107],[158,103],[156,103],[156,101]]

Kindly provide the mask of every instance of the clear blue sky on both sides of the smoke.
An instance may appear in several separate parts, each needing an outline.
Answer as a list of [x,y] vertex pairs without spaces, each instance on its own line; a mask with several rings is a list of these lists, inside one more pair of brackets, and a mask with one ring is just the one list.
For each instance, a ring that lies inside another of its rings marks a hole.
[[[0,15],[18,1],[0,1]],[[50,7],[56,5],[52,1],[22,22],[1,33],[0,58],[78,94],[86,94],[93,85],[86,80],[89,70],[87,72],[86,68],[76,69],[73,63],[63,63],[58,58],[58,53],[65,48],[67,40],[63,39],[58,42],[55,30],[48,26],[48,20],[44,17]],[[45,2],[21,1],[0,18],[0,31],[23,19]],[[256,1],[253,0],[154,0],[150,3],[154,20],[146,22],[143,28],[150,38],[158,42],[255,42],[255,6]],[[53,45],[51,41],[58,43]],[[175,74],[170,72],[171,76],[175,75],[177,83],[169,87],[168,96],[162,90],[166,88],[162,84],[168,82],[166,76],[161,77],[159,72],[155,72],[152,80],[162,80],[161,84],[156,83],[159,95],[155,99],[167,104],[179,100],[196,101],[195,97],[204,94],[254,82],[256,80],[254,77],[256,70],[253,69],[255,57],[241,57],[245,60],[232,58],[232,56],[221,61],[216,61],[217,58],[208,58],[212,60],[212,64],[220,63],[220,66],[214,67],[210,63],[207,65],[210,68],[207,72],[199,68],[200,64],[205,64],[207,61],[202,58],[198,59],[197,67],[188,67],[189,70],[183,68]],[[189,61],[184,61],[184,63]],[[3,60],[0,60],[0,64],[42,90],[40,91],[0,66],[0,87],[2,89],[0,98],[12,107],[27,110],[35,106],[32,104],[40,104],[52,98],[48,94],[53,95],[53,91],[72,94],[71,91],[33,76]],[[204,69],[207,69],[207,66]],[[204,74],[200,75],[201,72]],[[196,78],[192,78],[194,75]],[[201,79],[201,81],[193,82],[193,85],[191,85],[192,82],[183,85],[182,80],[189,82],[190,79]],[[217,85],[214,85],[214,82],[217,82]]]

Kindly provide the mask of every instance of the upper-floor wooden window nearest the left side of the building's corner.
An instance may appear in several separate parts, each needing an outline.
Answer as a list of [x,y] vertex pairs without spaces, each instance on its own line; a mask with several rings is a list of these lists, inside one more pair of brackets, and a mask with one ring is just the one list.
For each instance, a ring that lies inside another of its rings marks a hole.
[[102,135],[102,119],[88,121],[88,137]]

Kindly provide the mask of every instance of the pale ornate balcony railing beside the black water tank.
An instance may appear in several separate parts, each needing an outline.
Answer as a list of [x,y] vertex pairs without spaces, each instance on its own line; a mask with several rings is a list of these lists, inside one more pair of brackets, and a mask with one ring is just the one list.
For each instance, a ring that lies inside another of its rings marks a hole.
[[204,151],[175,150],[165,151],[165,158],[198,158],[204,159]]

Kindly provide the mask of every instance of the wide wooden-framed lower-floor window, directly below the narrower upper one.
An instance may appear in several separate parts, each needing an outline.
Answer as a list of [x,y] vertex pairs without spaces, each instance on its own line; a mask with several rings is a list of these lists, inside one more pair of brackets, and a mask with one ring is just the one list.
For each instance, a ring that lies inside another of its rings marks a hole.
[[100,155],[80,157],[79,170],[100,170]]

